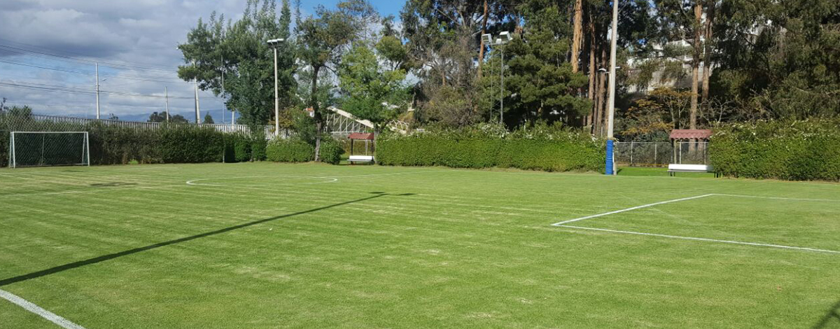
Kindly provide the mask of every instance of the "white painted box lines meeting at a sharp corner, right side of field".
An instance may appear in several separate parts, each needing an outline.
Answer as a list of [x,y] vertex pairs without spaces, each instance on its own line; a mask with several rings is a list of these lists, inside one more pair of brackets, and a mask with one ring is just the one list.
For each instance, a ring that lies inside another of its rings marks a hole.
[[569,227],[569,228],[576,228],[576,229],[581,229],[581,230],[591,230],[591,231],[601,231],[601,232],[613,232],[613,233],[623,233],[623,234],[635,234],[635,235],[644,235],[644,236],[648,236],[648,237],[676,238],[676,239],[682,239],[682,240],[706,241],[706,242],[714,242],[714,243],[732,243],[732,244],[743,244],[743,245],[748,245],[748,246],[759,246],[759,247],[769,247],[769,248],[784,248],[784,249],[806,250],[806,251],[815,251],[815,252],[820,252],[820,253],[840,253],[840,251],[835,251],[835,250],[817,249],[817,248],[806,248],[806,247],[794,247],[794,246],[785,246],[785,245],[780,245],[780,244],[770,244],[770,243],[746,243],[746,242],[741,242],[741,241],[718,240],[718,239],[713,239],[713,238],[683,237],[683,236],[678,236],[678,235],[667,235],[667,234],[657,234],[657,233],[647,233],[647,232],[635,232],[635,231],[620,231],[620,230],[611,230],[611,229],[607,229],[607,228],[579,227],[579,226],[574,226],[574,225],[564,225],[564,224],[569,223],[569,222],[578,222],[578,221],[583,221],[583,220],[585,220],[585,219],[590,219],[590,218],[595,218],[595,217],[602,217],[602,216],[607,216],[607,215],[617,214],[617,213],[619,213],[619,212],[624,212],[624,211],[632,211],[632,210],[636,210],[636,209],[646,208],[646,207],[648,207],[648,206],[657,206],[657,205],[663,205],[663,204],[666,204],[666,203],[671,203],[671,202],[679,202],[679,201],[687,201],[687,200],[693,200],[693,199],[700,199],[700,198],[702,198],[702,197],[706,197],[706,196],[732,196],[732,197],[747,197],[747,198],[758,198],[758,199],[770,199],[770,200],[792,200],[792,201],[837,201],[837,200],[827,200],[827,199],[799,199],[799,198],[786,198],[786,197],[775,197],[775,196],[740,196],[740,195],[732,195],[732,194],[717,194],[717,193],[711,193],[711,194],[704,194],[704,195],[702,195],[702,196],[690,196],[690,197],[685,197],[685,198],[681,198],[681,199],[675,199],[675,200],[668,200],[668,201],[660,201],[660,202],[655,202],[655,203],[649,203],[649,204],[647,204],[647,205],[642,205],[642,206],[633,206],[633,207],[630,207],[630,208],[627,208],[627,209],[622,209],[622,210],[617,210],[617,211],[609,211],[609,212],[604,212],[604,213],[597,214],[597,215],[591,215],[591,216],[586,216],[586,217],[580,217],[580,218],[570,219],[570,220],[568,220],[568,221],[564,221],[564,222],[556,222],[556,223],[551,224],[551,225],[552,225],[552,226],[554,226],[554,227]]

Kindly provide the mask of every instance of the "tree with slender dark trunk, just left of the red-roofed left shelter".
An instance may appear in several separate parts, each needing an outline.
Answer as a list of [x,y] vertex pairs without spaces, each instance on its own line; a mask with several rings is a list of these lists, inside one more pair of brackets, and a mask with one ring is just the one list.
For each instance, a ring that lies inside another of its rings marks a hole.
[[320,160],[324,123],[322,104],[318,102],[318,77],[324,69],[335,71],[333,67],[338,65],[344,46],[359,39],[364,32],[365,19],[375,15],[370,3],[364,0],[349,0],[336,6],[334,10],[319,6],[314,16],[303,19],[297,25],[296,31],[298,58],[309,69],[310,93],[307,102],[315,114],[316,161]]

